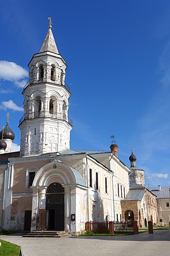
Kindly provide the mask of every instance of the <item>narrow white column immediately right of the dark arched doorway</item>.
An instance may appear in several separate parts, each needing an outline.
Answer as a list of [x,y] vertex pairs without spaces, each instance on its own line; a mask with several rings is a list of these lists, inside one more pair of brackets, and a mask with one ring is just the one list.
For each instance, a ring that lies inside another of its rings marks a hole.
[[65,188],[65,231],[70,232],[70,187],[64,187],[64,188]]

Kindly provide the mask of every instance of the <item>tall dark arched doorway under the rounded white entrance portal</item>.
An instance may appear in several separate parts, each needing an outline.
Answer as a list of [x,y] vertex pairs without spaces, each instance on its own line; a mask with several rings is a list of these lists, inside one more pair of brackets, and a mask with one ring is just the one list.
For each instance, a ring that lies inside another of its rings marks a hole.
[[48,210],[47,229],[64,230],[64,189],[53,183],[46,191],[46,210]]

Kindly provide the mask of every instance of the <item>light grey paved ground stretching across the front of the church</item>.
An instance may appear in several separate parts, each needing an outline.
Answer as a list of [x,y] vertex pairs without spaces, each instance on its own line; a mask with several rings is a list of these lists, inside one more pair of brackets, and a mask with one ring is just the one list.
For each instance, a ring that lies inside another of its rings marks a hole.
[[22,246],[24,256],[170,255],[170,229],[118,237],[27,238],[15,234],[1,239]]

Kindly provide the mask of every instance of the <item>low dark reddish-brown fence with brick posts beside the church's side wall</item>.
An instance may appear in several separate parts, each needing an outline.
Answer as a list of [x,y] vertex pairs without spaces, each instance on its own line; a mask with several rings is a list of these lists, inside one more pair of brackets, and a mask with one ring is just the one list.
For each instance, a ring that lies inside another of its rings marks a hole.
[[138,234],[137,221],[87,221],[85,229],[98,234]]

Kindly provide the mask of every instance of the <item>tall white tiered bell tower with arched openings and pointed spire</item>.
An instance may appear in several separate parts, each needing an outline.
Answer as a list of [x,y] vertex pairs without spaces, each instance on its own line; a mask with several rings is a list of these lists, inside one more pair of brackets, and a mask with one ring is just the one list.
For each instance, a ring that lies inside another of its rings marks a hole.
[[52,22],[40,52],[28,64],[29,82],[23,90],[20,155],[59,152],[70,148],[68,118],[70,89],[65,84],[66,61],[58,53]]

